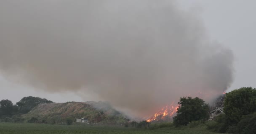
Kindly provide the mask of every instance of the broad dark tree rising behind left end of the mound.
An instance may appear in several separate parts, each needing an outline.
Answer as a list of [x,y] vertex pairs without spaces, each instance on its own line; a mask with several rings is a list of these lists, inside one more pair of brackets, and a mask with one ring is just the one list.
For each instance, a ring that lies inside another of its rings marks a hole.
[[32,108],[39,104],[43,103],[53,103],[52,101],[48,101],[45,98],[39,98],[39,97],[24,97],[21,99],[21,101],[17,102],[16,105],[19,107],[19,113],[28,113]]

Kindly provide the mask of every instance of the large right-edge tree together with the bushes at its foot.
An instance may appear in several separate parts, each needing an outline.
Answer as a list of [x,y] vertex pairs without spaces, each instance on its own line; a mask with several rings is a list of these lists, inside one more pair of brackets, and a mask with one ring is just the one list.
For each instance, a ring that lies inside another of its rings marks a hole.
[[256,133],[256,88],[240,88],[226,93],[224,113],[208,122],[208,129],[232,134]]

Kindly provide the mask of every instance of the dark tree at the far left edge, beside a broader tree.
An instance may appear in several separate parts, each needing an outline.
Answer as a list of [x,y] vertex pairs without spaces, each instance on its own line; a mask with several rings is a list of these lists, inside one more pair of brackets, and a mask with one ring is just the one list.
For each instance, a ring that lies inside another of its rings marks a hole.
[[0,116],[12,116],[13,103],[10,100],[0,101]]

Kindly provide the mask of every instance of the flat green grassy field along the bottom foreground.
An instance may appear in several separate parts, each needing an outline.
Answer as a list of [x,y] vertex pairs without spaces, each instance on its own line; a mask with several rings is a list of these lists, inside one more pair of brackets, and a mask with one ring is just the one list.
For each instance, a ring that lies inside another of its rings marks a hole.
[[136,129],[113,126],[0,123],[0,134],[217,134],[202,128]]

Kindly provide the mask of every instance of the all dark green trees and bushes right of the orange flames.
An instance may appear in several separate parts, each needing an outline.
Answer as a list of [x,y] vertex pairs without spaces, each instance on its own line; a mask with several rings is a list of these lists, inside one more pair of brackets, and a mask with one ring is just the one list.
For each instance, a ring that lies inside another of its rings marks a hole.
[[209,106],[200,98],[181,98],[173,126],[206,126],[214,132],[255,134],[256,89],[240,88],[225,94],[224,113],[209,121]]

